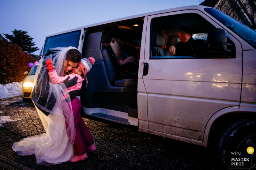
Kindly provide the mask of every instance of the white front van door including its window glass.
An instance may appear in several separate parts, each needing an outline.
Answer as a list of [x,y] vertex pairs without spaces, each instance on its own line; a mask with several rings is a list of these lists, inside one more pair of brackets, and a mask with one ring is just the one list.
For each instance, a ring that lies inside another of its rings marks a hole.
[[204,57],[198,57],[196,50],[201,47],[193,46],[193,55],[171,56],[169,48],[164,48],[163,33],[169,41],[175,39],[177,43],[181,28],[189,28],[194,41],[206,41],[210,29],[222,27],[198,10],[148,16],[144,57],[148,73],[143,75],[148,130],[152,134],[206,146],[202,141],[211,116],[223,108],[240,104],[242,48],[226,31],[228,43],[235,46],[233,55],[204,51]]

